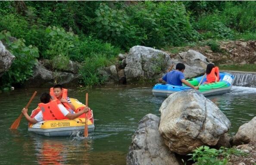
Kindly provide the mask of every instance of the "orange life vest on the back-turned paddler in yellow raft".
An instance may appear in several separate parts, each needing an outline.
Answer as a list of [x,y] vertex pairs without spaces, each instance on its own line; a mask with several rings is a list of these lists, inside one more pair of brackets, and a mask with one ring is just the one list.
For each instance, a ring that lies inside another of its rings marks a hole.
[[63,120],[66,118],[58,107],[58,103],[60,101],[55,99],[53,101],[48,102],[47,104],[39,103],[38,106],[42,110],[43,120]]

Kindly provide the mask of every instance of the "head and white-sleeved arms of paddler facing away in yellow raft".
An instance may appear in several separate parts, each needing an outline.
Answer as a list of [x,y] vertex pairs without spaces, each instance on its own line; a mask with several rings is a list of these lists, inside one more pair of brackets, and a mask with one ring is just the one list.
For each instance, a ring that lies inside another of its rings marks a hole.
[[[40,100],[42,103],[44,104],[49,104],[50,102],[53,102],[53,101],[50,101],[51,99],[51,96],[49,93],[43,93],[42,96],[40,97]],[[40,103],[41,104],[41,103]],[[39,105],[40,105],[39,104]],[[86,107],[84,109],[82,109],[81,111],[79,111],[78,113],[70,113],[62,104],[58,104],[57,105],[59,109],[51,109],[51,111],[61,111],[61,113],[63,114],[62,116],[72,120],[72,119],[75,119],[79,116],[81,116],[82,114],[84,113],[87,113],[90,108]],[[40,111],[37,115],[35,115],[35,117],[31,118],[29,115],[28,115],[28,109],[27,108],[23,108],[22,109],[22,114],[24,114],[25,118],[28,120],[28,122],[30,123],[37,123],[37,122],[40,122],[40,121],[43,121],[43,119],[45,118],[43,115],[43,112]]]

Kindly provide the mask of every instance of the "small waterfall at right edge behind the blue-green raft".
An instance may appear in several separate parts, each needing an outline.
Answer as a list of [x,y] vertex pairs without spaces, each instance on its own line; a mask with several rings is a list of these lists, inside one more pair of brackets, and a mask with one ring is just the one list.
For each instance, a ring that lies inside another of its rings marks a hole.
[[256,72],[227,71],[234,75],[235,86],[256,87]]

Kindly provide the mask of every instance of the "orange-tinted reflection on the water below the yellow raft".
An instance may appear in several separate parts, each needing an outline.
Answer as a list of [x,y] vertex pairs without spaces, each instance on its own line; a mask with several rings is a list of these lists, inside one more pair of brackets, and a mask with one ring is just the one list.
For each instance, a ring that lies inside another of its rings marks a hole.
[[[82,138],[34,137],[33,146],[40,165],[89,165],[92,143]],[[78,141],[77,139],[81,139]],[[77,159],[79,157],[79,159]]]

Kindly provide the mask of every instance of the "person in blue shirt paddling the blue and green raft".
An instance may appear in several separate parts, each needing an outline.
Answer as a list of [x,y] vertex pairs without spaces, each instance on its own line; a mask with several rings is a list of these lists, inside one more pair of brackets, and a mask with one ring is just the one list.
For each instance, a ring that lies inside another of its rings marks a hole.
[[185,69],[185,65],[183,63],[178,63],[176,65],[176,70],[166,73],[162,78],[159,78],[159,81],[165,81],[167,84],[182,86],[182,83],[187,85],[188,87],[194,88],[198,90],[198,87],[190,84],[187,80],[185,80],[185,76],[183,74]]

